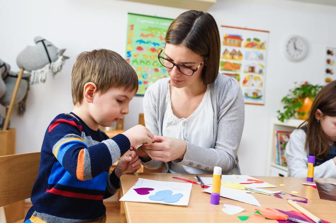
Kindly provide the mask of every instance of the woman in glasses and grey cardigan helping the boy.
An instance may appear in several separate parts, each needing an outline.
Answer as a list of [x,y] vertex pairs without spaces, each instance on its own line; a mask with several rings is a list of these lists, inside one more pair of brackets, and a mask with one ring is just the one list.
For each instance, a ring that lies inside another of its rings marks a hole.
[[219,74],[220,37],[209,13],[188,11],[169,26],[159,55],[169,78],[148,87],[146,127],[156,135],[138,155],[163,172],[240,174],[237,150],[244,126],[244,101],[236,80]]

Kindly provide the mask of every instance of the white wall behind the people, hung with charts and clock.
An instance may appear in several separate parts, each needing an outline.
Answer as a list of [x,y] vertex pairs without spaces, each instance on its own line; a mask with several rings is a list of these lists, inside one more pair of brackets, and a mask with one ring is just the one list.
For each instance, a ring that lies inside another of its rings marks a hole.
[[[33,85],[23,117],[13,112],[11,127],[17,130],[17,153],[41,149],[52,118],[72,110],[70,76],[76,56],[83,51],[107,48],[125,55],[127,12],[175,18],[185,9],[117,0],[1,0],[0,58],[18,71],[16,56],[35,36],[42,36],[70,56],[61,73],[46,83]],[[322,83],[325,48],[336,46],[336,7],[287,0],[218,0],[209,9],[218,25],[270,31],[265,106],[246,105],[245,128],[238,152],[242,173],[264,175],[270,118],[281,109],[281,98],[295,81]],[[310,45],[299,63],[283,55],[284,40],[301,35]],[[4,109],[1,108],[4,115]],[[135,97],[125,128],[138,122],[142,97]]]

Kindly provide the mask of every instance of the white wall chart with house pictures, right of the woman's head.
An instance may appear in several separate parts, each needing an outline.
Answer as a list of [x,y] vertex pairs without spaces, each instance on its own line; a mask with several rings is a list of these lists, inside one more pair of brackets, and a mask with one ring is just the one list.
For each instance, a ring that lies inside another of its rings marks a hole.
[[269,31],[223,25],[219,33],[219,73],[239,82],[245,104],[264,105]]

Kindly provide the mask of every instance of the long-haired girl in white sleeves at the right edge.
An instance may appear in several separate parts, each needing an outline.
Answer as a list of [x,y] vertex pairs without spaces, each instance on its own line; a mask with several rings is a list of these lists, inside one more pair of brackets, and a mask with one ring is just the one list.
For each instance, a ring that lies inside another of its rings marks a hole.
[[291,177],[307,177],[308,155],[315,156],[314,178],[336,178],[336,81],[317,94],[309,117],[286,147]]

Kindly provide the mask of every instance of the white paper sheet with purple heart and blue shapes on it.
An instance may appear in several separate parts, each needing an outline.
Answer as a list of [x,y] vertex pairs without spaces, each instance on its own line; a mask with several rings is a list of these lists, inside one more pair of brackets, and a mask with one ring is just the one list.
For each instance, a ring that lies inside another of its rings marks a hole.
[[[190,183],[179,183],[179,182],[169,182],[169,181],[154,181],[144,178],[139,178],[138,181],[126,192],[126,194],[120,198],[119,201],[130,201],[130,202],[146,202],[146,203],[159,203],[159,204],[171,204],[171,205],[184,205],[187,206],[189,203],[189,197],[191,192]],[[134,189],[139,188],[152,188],[153,190],[148,191],[148,194],[138,194]],[[172,194],[183,194],[183,196],[174,203],[165,203],[163,201],[152,201],[149,196],[155,195],[156,192],[162,190],[171,190]]]

